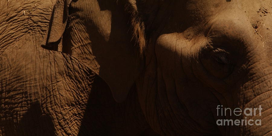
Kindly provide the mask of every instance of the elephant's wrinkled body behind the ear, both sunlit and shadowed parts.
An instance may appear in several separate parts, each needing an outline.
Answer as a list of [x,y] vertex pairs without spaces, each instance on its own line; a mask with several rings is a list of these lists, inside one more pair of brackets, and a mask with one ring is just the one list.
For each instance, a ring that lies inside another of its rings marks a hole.
[[1,1],[0,135],[153,135],[136,88],[115,102],[92,68],[40,45],[55,1]]

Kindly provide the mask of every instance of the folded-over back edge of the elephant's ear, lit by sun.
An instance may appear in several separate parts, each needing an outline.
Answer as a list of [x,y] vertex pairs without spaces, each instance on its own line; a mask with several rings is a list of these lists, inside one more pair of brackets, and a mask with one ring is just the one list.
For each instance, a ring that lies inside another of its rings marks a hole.
[[58,44],[65,31],[69,6],[73,0],[57,0],[53,9],[53,14],[47,29],[47,36],[42,43],[42,47],[54,50],[53,44]]

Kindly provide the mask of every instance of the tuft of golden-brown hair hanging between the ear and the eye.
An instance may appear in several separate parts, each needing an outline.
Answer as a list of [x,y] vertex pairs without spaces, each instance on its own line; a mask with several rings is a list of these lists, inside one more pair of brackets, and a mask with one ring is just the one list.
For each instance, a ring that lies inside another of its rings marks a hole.
[[140,56],[144,56],[144,51],[146,50],[147,41],[146,41],[146,34],[145,34],[145,24],[142,20],[137,6],[134,0],[128,0],[129,2],[126,4],[126,11],[130,13],[130,23],[131,23],[131,30],[132,30],[132,37],[131,41],[135,40],[138,44],[138,49]]

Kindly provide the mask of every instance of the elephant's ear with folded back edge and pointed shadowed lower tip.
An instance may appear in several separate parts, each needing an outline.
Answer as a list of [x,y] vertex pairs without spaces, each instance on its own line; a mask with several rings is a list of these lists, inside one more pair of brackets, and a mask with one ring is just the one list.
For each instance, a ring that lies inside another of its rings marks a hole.
[[108,0],[57,1],[43,44],[70,53],[91,67],[119,102],[125,100],[143,67],[128,32],[130,25],[125,20],[129,15],[124,8]]

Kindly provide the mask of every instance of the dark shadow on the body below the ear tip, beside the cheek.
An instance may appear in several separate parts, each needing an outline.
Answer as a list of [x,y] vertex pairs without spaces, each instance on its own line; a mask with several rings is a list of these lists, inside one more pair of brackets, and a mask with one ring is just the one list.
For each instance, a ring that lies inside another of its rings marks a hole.
[[[136,102],[138,99],[131,98],[130,96],[137,95],[136,86],[132,87],[128,99],[131,102]],[[103,97],[101,97],[103,96]],[[99,76],[93,79],[92,89],[89,95],[89,101],[86,106],[86,111],[82,119],[82,124],[79,128],[78,136],[85,135],[129,135],[137,134],[136,131],[126,128],[130,126],[125,120],[128,119],[126,114],[131,114],[126,112],[125,105],[131,105],[130,101],[125,101],[122,103],[117,103],[112,97],[112,93],[108,85]],[[134,107],[134,105],[131,105]],[[133,111],[133,109],[131,109]],[[139,109],[137,110],[139,111]],[[135,117],[137,119],[137,117]],[[133,119],[132,119],[133,120]],[[140,136],[159,136],[155,133],[149,126],[139,134]],[[139,129],[139,128],[138,128]]]

